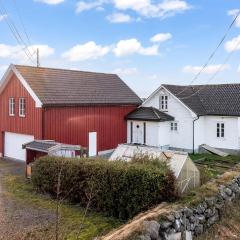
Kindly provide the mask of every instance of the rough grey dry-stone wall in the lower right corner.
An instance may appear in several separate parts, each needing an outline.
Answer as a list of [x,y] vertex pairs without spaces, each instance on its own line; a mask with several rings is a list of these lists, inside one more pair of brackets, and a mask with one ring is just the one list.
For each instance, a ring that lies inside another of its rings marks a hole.
[[205,198],[194,208],[182,208],[157,221],[144,221],[143,234],[137,240],[181,240],[192,239],[219,221],[233,200],[240,199],[240,176],[230,184],[219,187],[218,194]]

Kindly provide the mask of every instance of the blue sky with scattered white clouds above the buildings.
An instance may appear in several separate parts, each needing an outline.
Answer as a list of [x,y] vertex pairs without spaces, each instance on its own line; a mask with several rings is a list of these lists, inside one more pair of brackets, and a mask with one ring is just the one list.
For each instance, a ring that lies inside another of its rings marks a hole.
[[[118,74],[140,97],[161,84],[240,80],[239,0],[0,0],[9,64]],[[228,33],[205,70],[201,70]]]

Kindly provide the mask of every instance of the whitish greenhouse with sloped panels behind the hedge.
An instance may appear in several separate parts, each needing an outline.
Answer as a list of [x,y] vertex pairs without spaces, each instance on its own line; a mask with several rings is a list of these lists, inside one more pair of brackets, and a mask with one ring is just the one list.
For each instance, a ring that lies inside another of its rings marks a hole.
[[137,155],[148,155],[149,158],[166,161],[176,177],[180,194],[200,186],[200,172],[186,152],[161,150],[145,145],[120,144],[109,160],[131,161]]

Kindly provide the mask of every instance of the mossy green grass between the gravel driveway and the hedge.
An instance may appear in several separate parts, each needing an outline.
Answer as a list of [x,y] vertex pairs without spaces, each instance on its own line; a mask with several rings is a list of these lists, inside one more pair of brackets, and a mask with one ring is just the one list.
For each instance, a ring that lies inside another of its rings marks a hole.
[[[1,168],[3,164],[0,164]],[[48,196],[35,192],[31,183],[24,176],[7,174],[3,178],[5,194],[30,208],[47,209],[54,214],[56,201]],[[60,207],[60,239],[67,240],[90,240],[102,235],[121,224],[119,220],[104,217],[98,213],[88,211],[83,221],[84,208],[61,204]],[[80,230],[81,229],[81,230]],[[53,239],[55,225],[50,224],[47,228],[37,229],[29,233],[27,239]],[[36,236],[35,236],[36,235]]]

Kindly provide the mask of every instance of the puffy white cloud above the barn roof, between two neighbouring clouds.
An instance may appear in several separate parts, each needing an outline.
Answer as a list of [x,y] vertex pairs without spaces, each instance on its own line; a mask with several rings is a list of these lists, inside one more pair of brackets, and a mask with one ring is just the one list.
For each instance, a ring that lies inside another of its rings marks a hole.
[[90,41],[82,45],[76,45],[62,54],[62,57],[69,61],[84,61],[89,59],[97,59],[105,56],[110,51],[109,46],[97,45],[95,42]]

